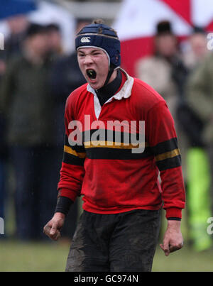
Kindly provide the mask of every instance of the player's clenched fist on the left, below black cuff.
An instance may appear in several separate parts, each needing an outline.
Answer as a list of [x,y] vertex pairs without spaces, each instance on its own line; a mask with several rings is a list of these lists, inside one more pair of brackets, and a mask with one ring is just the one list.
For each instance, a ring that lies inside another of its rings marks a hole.
[[60,230],[65,223],[65,214],[62,213],[55,213],[53,219],[48,221],[43,228],[43,232],[46,236],[51,238],[53,241],[58,241],[60,238]]

